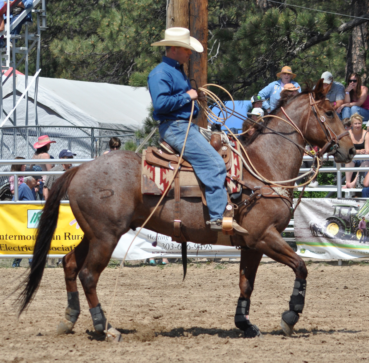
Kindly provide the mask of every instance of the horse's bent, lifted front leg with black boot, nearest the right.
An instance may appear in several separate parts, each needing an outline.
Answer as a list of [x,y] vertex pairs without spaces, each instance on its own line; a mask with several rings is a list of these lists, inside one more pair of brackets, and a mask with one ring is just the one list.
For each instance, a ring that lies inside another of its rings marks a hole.
[[296,275],[290,297],[289,310],[283,312],[280,322],[284,333],[290,336],[294,325],[299,321],[299,314],[304,309],[307,277],[305,262],[284,241],[274,227],[269,228],[268,232],[263,236],[263,241],[256,244],[256,249],[273,260],[289,266]]

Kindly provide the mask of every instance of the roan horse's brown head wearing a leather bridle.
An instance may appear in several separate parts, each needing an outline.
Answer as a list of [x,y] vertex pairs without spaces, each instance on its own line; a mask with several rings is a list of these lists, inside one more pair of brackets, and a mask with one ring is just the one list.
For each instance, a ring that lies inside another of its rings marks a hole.
[[307,141],[321,149],[320,154],[327,152],[334,156],[337,163],[348,163],[356,151],[342,121],[325,98],[328,91],[323,87],[323,79],[320,79],[313,90],[304,92],[310,99],[304,135]]

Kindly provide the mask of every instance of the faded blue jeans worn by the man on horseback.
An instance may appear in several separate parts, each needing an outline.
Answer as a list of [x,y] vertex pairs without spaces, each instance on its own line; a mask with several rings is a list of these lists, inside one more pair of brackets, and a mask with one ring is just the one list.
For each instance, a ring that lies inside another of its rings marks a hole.
[[[182,151],[188,121],[166,120],[159,125],[159,134],[164,141]],[[191,124],[184,148],[183,158],[193,167],[197,177],[205,184],[205,198],[210,221],[223,218],[227,206],[227,191],[224,181],[227,175],[223,158],[199,132],[199,127]]]

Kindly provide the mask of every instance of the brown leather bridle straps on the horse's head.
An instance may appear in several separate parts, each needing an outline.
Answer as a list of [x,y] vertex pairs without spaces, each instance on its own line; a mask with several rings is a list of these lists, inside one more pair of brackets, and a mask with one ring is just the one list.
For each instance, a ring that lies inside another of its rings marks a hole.
[[[339,149],[338,140],[341,140],[342,137],[344,137],[346,135],[349,135],[349,132],[344,131],[343,133],[341,133],[339,135],[336,135],[334,133],[334,131],[329,127],[329,125],[327,124],[327,122],[325,120],[325,117],[321,114],[320,110],[317,107],[317,104],[320,103],[321,100],[315,101],[314,98],[313,98],[313,95],[311,93],[309,93],[309,98],[310,98],[311,108],[309,109],[307,123],[306,123],[306,126],[305,126],[305,133],[306,133],[306,129],[307,129],[307,124],[309,123],[309,120],[310,120],[310,112],[311,112],[311,110],[313,110],[315,118],[318,120],[318,124],[322,128],[323,133],[324,133],[325,137],[327,138],[327,142],[317,153],[317,157],[320,158],[321,156],[323,156],[323,154],[327,151],[327,149],[329,147],[330,147],[330,149],[329,149],[328,152]],[[326,98],[324,101],[329,101],[329,100]]]

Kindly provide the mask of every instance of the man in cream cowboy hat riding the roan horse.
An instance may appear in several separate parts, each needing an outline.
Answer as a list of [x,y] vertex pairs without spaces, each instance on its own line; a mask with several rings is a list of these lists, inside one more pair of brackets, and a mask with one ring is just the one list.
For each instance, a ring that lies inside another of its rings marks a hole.
[[[204,92],[197,93],[183,70],[192,50],[202,52],[201,43],[190,36],[186,28],[169,28],[165,38],[152,46],[163,45],[166,56],[162,63],[149,74],[148,87],[154,105],[153,117],[159,121],[159,134],[170,146],[181,151],[186,136],[187,126],[194,101],[193,118],[199,114],[196,100],[205,100]],[[217,151],[200,134],[199,127],[190,125],[183,158],[191,163],[193,169],[205,184],[205,197],[210,215],[210,228],[221,231],[223,212],[227,206],[227,191],[224,181],[227,174],[224,161]],[[236,233],[246,235],[248,232],[233,222]]]

